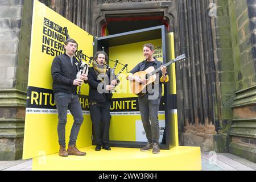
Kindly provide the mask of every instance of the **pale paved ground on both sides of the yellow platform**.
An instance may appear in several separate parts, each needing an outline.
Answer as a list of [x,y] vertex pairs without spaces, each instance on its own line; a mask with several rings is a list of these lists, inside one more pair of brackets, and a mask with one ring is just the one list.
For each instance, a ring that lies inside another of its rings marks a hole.
[[[256,163],[232,154],[201,152],[203,171],[256,171]],[[31,171],[32,160],[0,161],[0,171]]]

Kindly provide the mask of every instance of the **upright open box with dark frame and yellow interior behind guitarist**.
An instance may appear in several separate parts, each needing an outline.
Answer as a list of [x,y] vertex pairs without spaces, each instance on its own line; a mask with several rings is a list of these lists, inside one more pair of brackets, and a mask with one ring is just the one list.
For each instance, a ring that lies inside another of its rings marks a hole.
[[[104,49],[110,60],[110,67],[114,67],[114,60],[128,64],[127,71],[131,71],[139,62],[144,60],[143,45],[152,43],[155,46],[154,57],[163,64],[175,59],[174,34],[168,32],[165,26],[145,28],[143,30],[124,32],[94,39],[94,52]],[[116,73],[122,69],[117,67]],[[125,72],[126,73],[126,72]],[[175,64],[168,67],[169,82],[163,86],[163,96],[159,108],[160,148],[170,150],[179,146],[177,127],[176,102],[176,73]],[[146,144],[146,136],[141,123],[138,97],[131,93],[130,81],[125,74],[121,76],[121,85],[117,86],[112,105],[112,120],[110,126],[110,144],[115,147],[139,148]],[[129,102],[120,107],[118,103]],[[130,105],[129,105],[130,104]]]

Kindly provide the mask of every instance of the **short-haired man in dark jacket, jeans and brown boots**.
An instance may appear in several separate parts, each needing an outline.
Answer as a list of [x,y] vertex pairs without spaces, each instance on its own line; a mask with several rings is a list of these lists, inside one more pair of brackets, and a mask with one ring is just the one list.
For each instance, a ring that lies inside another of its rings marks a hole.
[[[77,60],[74,55],[77,48],[77,43],[73,39],[67,39],[65,42],[65,53],[56,56],[52,62],[52,78],[53,78],[53,93],[58,113],[57,133],[59,137],[60,150],[59,155],[67,157],[68,155],[86,155],[85,152],[80,152],[76,147],[77,135],[84,121],[82,108],[77,96],[77,86],[81,86],[82,81],[87,81],[86,75],[81,75],[77,78]],[[79,64],[79,68],[81,63]],[[67,124],[68,110],[74,118],[71,134],[69,136],[68,150],[66,151],[65,144],[65,126]]]

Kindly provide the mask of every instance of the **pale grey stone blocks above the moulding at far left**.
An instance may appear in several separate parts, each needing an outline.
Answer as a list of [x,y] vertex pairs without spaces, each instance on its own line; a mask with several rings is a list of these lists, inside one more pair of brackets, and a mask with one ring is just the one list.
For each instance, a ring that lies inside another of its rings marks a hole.
[[22,20],[23,1],[0,1],[0,87],[15,85],[15,67],[18,59],[18,42]]

